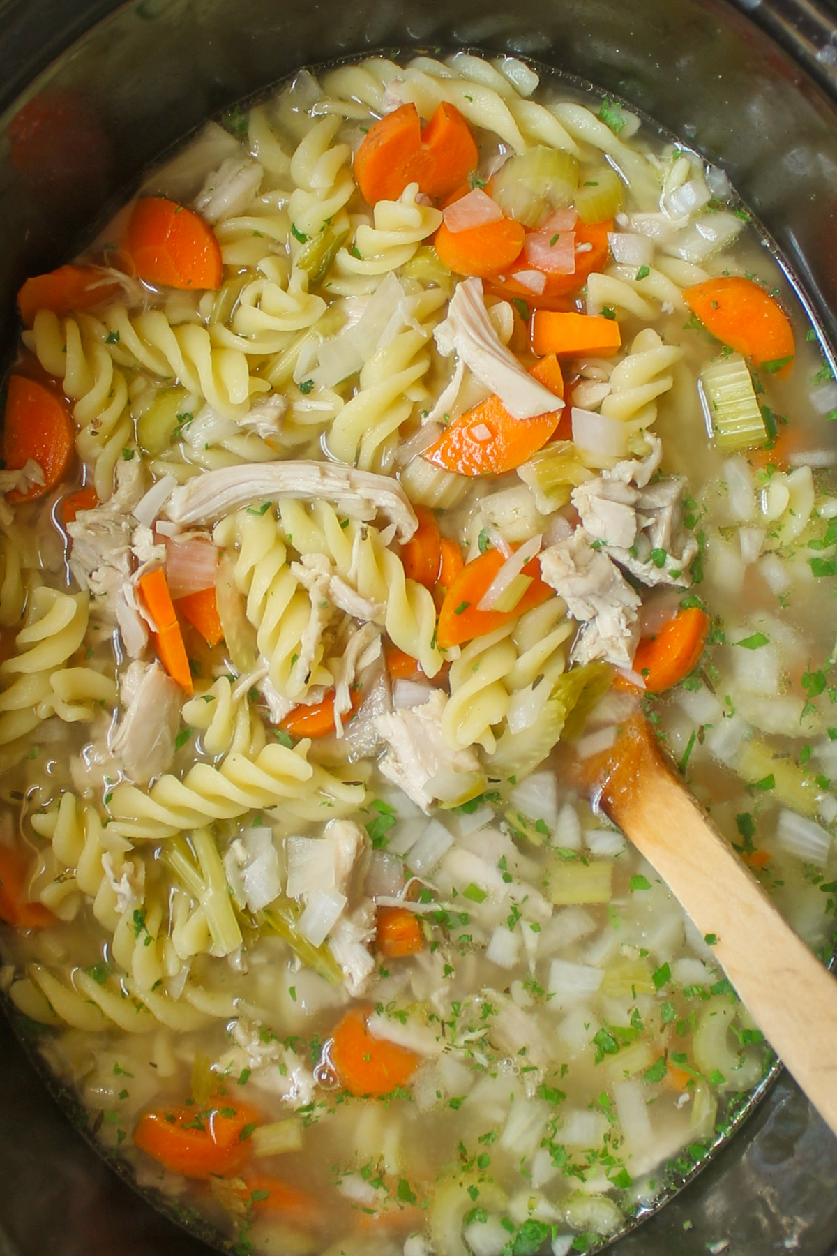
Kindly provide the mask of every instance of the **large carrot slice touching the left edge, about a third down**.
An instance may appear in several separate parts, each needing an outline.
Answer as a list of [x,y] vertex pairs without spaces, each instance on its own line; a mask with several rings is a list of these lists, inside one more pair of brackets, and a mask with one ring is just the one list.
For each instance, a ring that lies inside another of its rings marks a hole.
[[34,458],[44,482],[28,492],[13,489],[9,501],[34,501],[54,489],[73,457],[73,420],[67,401],[28,376],[10,376],[3,426],[6,466],[20,471]]

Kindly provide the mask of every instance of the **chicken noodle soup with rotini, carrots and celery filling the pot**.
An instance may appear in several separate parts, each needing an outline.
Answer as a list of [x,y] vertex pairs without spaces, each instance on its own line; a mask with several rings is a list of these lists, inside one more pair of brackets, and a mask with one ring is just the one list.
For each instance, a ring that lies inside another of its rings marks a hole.
[[831,953],[837,391],[724,175],[370,58],[19,304],[14,1012],[238,1253],[592,1250],[772,1058],[585,761],[644,711]]

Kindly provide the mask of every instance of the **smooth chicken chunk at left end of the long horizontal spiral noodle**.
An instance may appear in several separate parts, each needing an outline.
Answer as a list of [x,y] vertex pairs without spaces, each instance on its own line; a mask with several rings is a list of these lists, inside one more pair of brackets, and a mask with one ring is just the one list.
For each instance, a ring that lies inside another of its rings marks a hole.
[[137,784],[164,772],[174,757],[181,718],[181,691],[159,663],[133,662],[119,687],[125,712],[110,740],[110,750]]

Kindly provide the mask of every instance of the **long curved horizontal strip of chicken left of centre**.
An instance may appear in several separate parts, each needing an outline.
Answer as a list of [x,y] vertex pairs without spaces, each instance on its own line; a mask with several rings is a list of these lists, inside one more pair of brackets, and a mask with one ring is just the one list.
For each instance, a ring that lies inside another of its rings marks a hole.
[[408,541],[418,528],[415,511],[392,476],[355,471],[334,462],[289,462],[222,467],[176,489],[166,512],[176,524],[206,524],[253,501],[331,501],[350,519],[373,519],[380,510]]

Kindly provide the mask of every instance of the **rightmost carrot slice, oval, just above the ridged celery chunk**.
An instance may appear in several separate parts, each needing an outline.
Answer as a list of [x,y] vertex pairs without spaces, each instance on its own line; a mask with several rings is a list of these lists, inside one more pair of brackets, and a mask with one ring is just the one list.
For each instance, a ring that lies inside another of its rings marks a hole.
[[793,328],[784,310],[760,284],[740,275],[727,275],[684,288],[683,295],[689,309],[723,344],[779,378],[789,373]]

